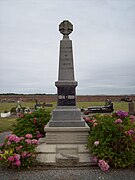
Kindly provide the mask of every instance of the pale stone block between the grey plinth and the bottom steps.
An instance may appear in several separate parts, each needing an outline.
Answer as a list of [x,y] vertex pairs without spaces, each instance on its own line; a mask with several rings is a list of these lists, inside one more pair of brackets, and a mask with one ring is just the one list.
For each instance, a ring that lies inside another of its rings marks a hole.
[[84,127],[49,127],[50,122],[45,127],[47,144],[86,144],[89,126]]

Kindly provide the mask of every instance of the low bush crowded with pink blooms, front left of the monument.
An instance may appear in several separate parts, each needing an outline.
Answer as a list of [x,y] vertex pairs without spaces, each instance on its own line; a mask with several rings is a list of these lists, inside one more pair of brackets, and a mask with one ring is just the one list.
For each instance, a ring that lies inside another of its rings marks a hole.
[[32,165],[36,156],[35,148],[38,145],[36,139],[31,139],[31,134],[18,137],[11,134],[0,145],[0,162],[10,168],[26,168]]

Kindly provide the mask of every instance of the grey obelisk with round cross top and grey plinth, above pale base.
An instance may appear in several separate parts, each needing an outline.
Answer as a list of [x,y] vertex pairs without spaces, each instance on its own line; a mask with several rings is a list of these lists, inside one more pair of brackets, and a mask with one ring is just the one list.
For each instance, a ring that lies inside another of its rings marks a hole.
[[60,41],[59,73],[57,87],[57,108],[52,113],[50,127],[83,127],[85,122],[81,119],[81,111],[76,107],[76,86],[74,78],[74,61],[72,41],[69,34],[73,25],[65,20],[59,25],[63,34]]

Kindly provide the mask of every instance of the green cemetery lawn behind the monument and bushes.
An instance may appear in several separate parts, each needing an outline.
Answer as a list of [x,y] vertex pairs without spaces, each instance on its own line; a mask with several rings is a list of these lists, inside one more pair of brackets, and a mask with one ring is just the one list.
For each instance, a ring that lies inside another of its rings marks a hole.
[[[49,111],[52,111],[56,107],[56,102],[52,102],[53,107],[46,107]],[[77,106],[79,108],[87,108],[89,106],[103,106],[104,102],[78,102]],[[124,110],[128,111],[128,103],[127,102],[113,102],[115,111]],[[22,102],[22,107],[34,108],[34,102]],[[5,111],[10,111],[12,107],[16,107],[17,103],[0,103],[0,113]],[[15,117],[9,118],[0,118],[0,132],[13,130],[15,124]]]

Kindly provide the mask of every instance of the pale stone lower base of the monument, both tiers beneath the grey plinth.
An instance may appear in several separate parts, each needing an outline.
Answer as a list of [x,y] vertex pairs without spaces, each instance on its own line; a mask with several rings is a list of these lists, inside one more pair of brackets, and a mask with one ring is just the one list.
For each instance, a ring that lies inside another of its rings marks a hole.
[[45,165],[94,165],[86,149],[89,127],[45,127],[46,137],[37,147],[37,161]]

